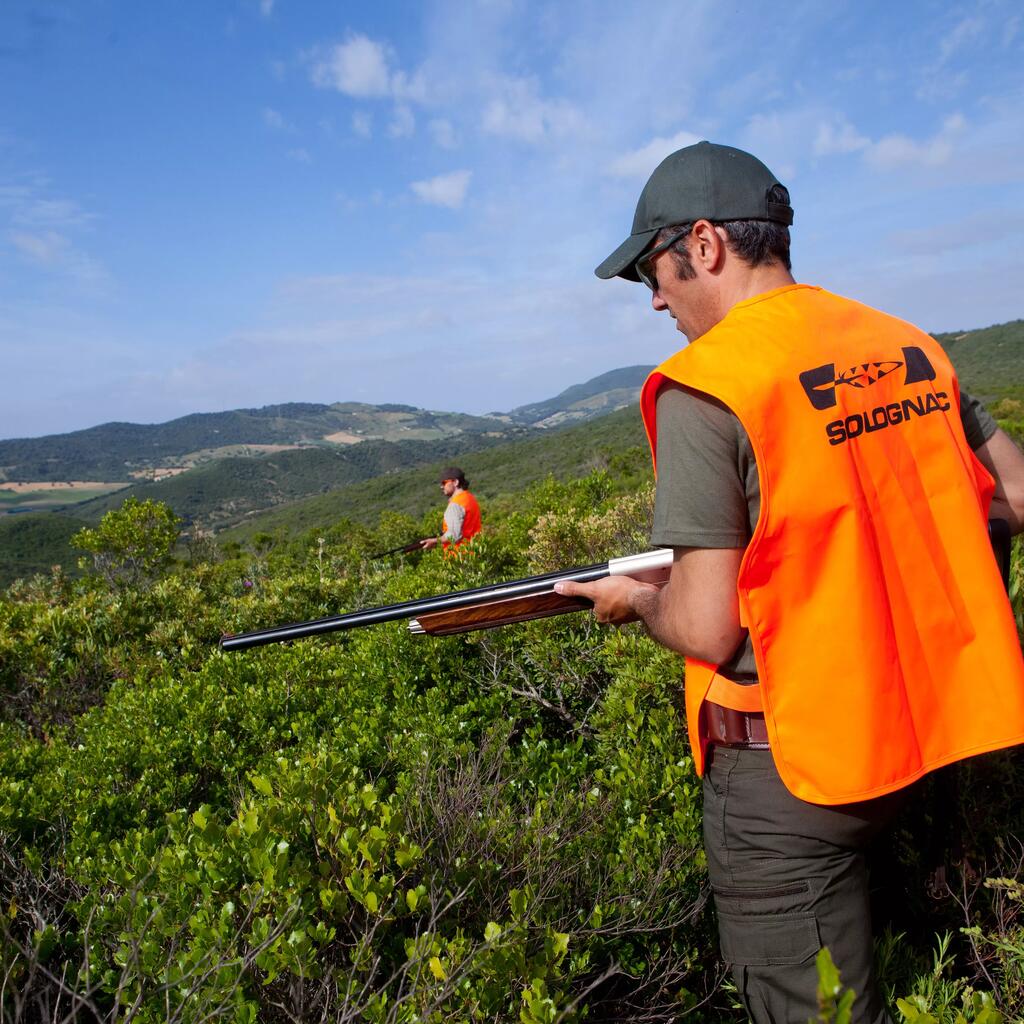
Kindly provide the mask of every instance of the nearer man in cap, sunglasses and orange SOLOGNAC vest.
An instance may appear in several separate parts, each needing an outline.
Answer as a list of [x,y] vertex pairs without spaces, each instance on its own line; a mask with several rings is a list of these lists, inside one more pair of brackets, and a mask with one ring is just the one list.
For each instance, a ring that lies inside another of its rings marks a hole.
[[930,771],[1024,741],[1024,660],[986,520],[1024,526],[1024,456],[910,325],[791,273],[788,191],[700,142],[645,185],[600,278],[690,344],[647,380],[668,584],[556,590],[686,662],[723,958],[756,1022],[888,1020],[863,851]]

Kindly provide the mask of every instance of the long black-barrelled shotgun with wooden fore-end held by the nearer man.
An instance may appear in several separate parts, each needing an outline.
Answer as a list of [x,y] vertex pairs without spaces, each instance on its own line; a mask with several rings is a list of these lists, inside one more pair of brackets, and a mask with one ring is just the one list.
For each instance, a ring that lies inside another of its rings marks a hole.
[[246,650],[266,643],[298,640],[302,637],[321,636],[340,630],[354,630],[364,626],[409,620],[409,629],[416,634],[451,636],[471,630],[493,629],[509,623],[522,623],[530,618],[546,618],[567,611],[591,607],[582,597],[563,597],[554,587],[562,581],[590,583],[610,575],[628,575],[644,583],[664,585],[672,568],[672,548],[645,551],[640,555],[611,558],[596,565],[585,565],[542,575],[496,583],[487,587],[461,590],[439,597],[426,597],[399,604],[386,604],[343,615],[329,615],[308,623],[292,623],[270,629],[255,630],[220,638],[221,650]]

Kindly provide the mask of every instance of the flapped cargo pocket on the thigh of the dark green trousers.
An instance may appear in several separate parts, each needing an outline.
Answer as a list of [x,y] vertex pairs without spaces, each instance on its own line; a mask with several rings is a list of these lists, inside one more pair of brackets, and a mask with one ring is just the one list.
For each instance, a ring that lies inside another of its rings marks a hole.
[[744,967],[776,967],[813,958],[821,948],[817,918],[812,910],[784,908],[787,898],[807,891],[804,882],[763,889],[716,889],[722,959]]

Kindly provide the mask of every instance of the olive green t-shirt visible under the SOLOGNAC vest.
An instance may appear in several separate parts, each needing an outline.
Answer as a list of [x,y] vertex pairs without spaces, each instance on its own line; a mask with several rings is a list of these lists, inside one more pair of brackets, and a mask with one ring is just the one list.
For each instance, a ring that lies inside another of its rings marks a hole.
[[[984,406],[961,392],[961,420],[972,449],[995,433]],[[670,548],[744,548],[761,511],[761,483],[750,438],[716,398],[666,384],[657,395],[657,489],[651,542]],[[744,639],[719,671],[738,682],[757,679]]]

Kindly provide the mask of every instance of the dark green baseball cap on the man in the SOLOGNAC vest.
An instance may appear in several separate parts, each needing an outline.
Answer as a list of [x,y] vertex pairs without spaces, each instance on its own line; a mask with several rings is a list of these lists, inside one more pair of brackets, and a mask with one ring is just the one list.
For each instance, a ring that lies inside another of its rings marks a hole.
[[640,193],[630,237],[594,271],[599,278],[639,281],[636,261],[663,227],[701,218],[793,223],[788,203],[769,202],[778,179],[742,150],[697,142],[666,157]]

